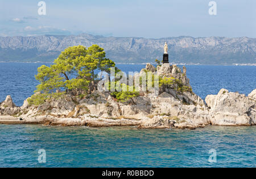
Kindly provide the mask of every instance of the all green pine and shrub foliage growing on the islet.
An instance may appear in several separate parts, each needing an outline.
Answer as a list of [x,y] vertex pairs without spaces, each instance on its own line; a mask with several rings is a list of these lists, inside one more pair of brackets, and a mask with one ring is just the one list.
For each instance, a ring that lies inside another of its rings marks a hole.
[[[98,45],[92,45],[91,47],[84,47],[82,45],[68,47],[65,49],[51,66],[42,65],[38,68],[38,74],[35,78],[40,82],[36,86],[36,91],[40,94],[34,94],[28,102],[30,105],[40,105],[49,98],[59,98],[64,94],[79,95],[78,97],[84,98],[88,94],[92,94],[92,91],[97,89],[98,81],[102,80],[97,77],[97,72],[101,74],[106,72],[109,74],[110,81],[110,69],[115,68],[115,81],[109,82],[109,91],[117,101],[126,102],[129,99],[138,97],[139,93],[135,91],[134,86],[128,86],[121,84],[119,80],[123,77],[123,73],[119,70],[115,63],[107,59],[104,49]],[[156,63],[160,65],[160,61],[156,60]],[[147,72],[147,71],[145,71]],[[155,81],[158,79],[154,74],[152,81],[148,81],[148,75],[142,78],[139,82],[142,85],[142,79],[146,79],[147,92],[152,89],[148,89],[148,86],[154,88]],[[188,86],[184,86],[181,81],[173,77],[159,77],[159,87],[174,88],[181,92],[192,91]],[[137,86],[138,87],[138,86]],[[124,90],[127,89],[127,90]],[[56,90],[63,92],[55,93]],[[76,91],[82,91],[82,93],[76,93]]]

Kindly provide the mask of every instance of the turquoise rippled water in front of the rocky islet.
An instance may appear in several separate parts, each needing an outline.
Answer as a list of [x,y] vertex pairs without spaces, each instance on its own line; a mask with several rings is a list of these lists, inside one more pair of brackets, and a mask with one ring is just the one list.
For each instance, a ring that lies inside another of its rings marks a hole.
[[[197,130],[0,125],[0,167],[255,167],[256,126]],[[38,150],[46,163],[38,163]],[[217,163],[209,163],[210,149]]]

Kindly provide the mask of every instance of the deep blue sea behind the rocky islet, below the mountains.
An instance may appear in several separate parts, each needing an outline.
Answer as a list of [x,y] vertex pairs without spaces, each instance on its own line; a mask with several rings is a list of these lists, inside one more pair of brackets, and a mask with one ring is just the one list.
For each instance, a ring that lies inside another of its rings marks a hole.
[[[0,101],[6,95],[13,97],[14,103],[22,106],[30,97],[38,81],[35,80],[40,63],[0,63]],[[49,64],[46,64],[49,65]],[[118,64],[123,72],[140,72],[145,65]],[[213,66],[187,65],[187,76],[193,91],[201,98],[217,94],[221,88],[249,94],[256,88],[256,66]]]

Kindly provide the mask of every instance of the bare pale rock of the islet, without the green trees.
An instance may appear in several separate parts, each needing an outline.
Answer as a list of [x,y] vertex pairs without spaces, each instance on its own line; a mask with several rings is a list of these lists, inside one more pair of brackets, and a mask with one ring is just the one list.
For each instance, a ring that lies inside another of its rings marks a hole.
[[9,95],[0,103],[0,124],[137,126],[191,130],[208,125],[256,124],[256,89],[248,96],[221,89],[217,95],[208,95],[203,101],[190,90],[185,67],[181,72],[176,65],[164,64],[155,68],[147,64],[141,73],[144,70],[156,71],[162,77],[175,78],[185,90],[177,90],[177,84],[162,86],[156,97],[152,93],[140,93],[127,102],[118,102],[110,92],[95,90],[82,99],[64,94],[38,106],[31,106],[28,98],[21,107],[16,106]]

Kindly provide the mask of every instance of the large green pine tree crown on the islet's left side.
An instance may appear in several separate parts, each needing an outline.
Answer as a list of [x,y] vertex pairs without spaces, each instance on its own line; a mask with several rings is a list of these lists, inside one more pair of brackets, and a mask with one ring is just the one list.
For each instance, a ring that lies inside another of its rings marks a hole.
[[35,76],[40,84],[36,91],[42,94],[53,94],[56,90],[64,90],[72,94],[72,90],[82,90],[85,94],[96,89],[96,70],[110,73],[115,67],[112,60],[105,58],[104,49],[98,45],[86,48],[82,45],[68,47],[51,66],[42,65]]

